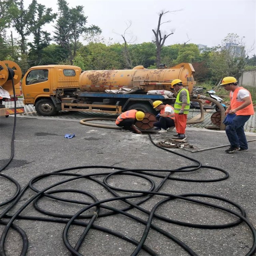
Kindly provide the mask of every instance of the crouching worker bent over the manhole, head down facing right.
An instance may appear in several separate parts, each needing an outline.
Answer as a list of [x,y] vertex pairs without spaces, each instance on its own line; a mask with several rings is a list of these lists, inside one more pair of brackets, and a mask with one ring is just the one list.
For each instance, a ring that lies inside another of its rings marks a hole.
[[137,120],[141,121],[144,117],[145,114],[142,111],[131,109],[116,118],[116,125],[123,127],[122,131],[124,132],[134,131],[135,133],[141,134],[141,131],[134,124]]

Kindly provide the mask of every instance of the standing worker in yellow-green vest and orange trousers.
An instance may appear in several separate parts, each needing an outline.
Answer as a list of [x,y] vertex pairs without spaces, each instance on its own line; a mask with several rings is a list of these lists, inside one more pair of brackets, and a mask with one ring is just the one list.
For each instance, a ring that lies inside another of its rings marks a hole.
[[184,139],[189,112],[189,92],[180,79],[174,79],[171,83],[172,88],[178,93],[174,103],[175,128],[177,134],[173,139]]

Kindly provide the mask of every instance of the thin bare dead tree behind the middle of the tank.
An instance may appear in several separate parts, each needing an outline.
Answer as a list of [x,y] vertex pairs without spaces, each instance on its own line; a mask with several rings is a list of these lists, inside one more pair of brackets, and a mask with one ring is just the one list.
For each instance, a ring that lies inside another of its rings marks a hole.
[[[132,21],[128,20],[127,22],[125,22],[125,24],[126,24],[126,29],[123,34],[118,34],[118,33],[114,32],[113,30],[112,30],[112,32],[117,35],[120,35],[123,38],[123,40],[124,40],[123,55],[124,55],[124,58],[126,61],[126,68],[132,68],[132,60],[130,58],[130,54],[129,54],[129,51],[127,48],[127,43],[134,43],[137,40],[137,37],[134,37],[134,35],[132,34],[132,31],[129,30],[129,28],[132,25]],[[126,39],[126,35],[128,35],[128,41]]]

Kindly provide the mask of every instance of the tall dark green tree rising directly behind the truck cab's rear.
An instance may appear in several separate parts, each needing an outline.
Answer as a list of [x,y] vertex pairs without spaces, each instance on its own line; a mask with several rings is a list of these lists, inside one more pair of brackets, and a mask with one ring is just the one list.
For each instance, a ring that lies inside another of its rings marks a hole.
[[54,26],[54,40],[60,44],[69,53],[70,64],[76,55],[79,37],[88,31],[101,31],[97,26],[85,26],[87,17],[84,15],[84,6],[78,5],[75,8],[69,8],[66,0],[58,0],[59,17]]

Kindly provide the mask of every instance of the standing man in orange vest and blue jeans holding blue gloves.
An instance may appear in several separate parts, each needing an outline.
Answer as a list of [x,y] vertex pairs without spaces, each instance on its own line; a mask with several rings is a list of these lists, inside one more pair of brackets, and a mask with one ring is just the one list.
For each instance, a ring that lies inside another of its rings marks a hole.
[[230,147],[225,152],[248,151],[244,124],[251,115],[254,115],[251,94],[245,88],[239,87],[237,80],[232,76],[224,77],[221,85],[225,90],[230,91],[230,105],[225,111],[225,115],[233,117],[225,129],[230,142]]

